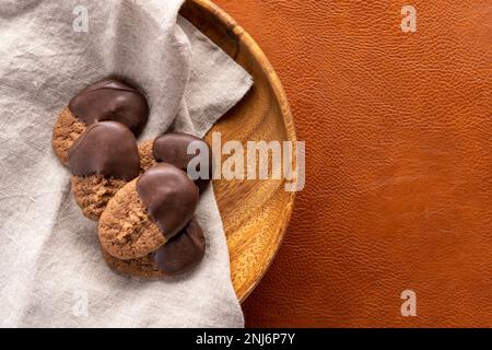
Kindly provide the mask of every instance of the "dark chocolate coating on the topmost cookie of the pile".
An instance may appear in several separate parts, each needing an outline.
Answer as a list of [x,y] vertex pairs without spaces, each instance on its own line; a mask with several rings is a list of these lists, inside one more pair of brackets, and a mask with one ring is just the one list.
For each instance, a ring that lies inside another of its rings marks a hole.
[[149,118],[149,105],[143,94],[115,79],[86,86],[70,101],[69,109],[86,125],[115,120],[136,135],[142,131]]

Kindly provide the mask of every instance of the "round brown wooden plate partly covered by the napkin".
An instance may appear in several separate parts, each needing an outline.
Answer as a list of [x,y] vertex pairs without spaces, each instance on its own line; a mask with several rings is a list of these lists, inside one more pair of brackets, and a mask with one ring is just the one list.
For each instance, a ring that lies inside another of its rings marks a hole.
[[[245,98],[208,133],[208,141],[213,131],[222,133],[222,142],[239,140],[244,147],[247,140],[295,141],[283,88],[255,40],[208,0],[188,0],[180,13],[255,80]],[[267,271],[280,246],[295,192],[285,191],[284,180],[274,179],[220,179],[213,185],[227,237],[233,285],[237,298],[244,301]]]

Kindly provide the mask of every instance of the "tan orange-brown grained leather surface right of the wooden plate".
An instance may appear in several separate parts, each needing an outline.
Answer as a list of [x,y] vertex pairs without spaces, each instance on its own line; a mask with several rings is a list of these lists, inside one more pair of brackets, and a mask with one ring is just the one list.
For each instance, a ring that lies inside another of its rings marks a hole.
[[492,2],[215,2],[270,58],[307,148],[247,326],[492,326]]

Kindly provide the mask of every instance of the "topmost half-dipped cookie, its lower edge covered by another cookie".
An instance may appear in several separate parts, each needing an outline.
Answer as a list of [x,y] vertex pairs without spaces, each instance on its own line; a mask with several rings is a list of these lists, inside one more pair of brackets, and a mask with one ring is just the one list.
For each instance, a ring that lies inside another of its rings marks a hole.
[[148,117],[149,105],[140,91],[125,82],[104,79],[79,92],[60,113],[52,130],[52,149],[67,165],[69,149],[94,122],[118,121],[139,135]]

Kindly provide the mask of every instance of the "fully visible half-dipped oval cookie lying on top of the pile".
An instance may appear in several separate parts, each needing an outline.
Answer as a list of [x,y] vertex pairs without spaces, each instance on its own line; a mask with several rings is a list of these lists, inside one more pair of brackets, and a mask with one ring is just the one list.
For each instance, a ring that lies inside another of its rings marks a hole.
[[125,185],[101,215],[103,249],[117,259],[155,252],[191,220],[198,188],[177,167],[160,163]]

